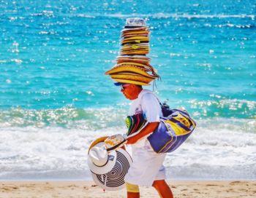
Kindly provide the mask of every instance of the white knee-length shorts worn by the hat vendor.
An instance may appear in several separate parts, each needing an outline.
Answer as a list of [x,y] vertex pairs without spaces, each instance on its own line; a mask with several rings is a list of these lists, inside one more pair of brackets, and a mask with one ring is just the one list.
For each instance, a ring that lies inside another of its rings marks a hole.
[[154,152],[148,140],[142,147],[132,146],[132,165],[124,181],[139,186],[152,186],[156,180],[165,180],[165,167],[162,165],[165,156]]

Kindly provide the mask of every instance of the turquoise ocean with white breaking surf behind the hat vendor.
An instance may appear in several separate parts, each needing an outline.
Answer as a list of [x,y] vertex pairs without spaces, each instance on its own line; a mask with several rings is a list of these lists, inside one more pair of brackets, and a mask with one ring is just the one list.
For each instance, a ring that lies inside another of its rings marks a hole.
[[255,13],[249,0],[0,0],[0,179],[91,179],[91,141],[126,132],[129,100],[104,73],[127,17],[151,28],[160,100],[197,121],[167,177],[255,179]]

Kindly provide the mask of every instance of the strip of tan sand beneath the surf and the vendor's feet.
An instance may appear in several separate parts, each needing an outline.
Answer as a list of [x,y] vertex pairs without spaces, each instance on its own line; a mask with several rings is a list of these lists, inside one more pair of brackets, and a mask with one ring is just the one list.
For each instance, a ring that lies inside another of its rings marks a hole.
[[[0,197],[126,197],[126,191],[103,191],[92,181],[1,181]],[[256,181],[169,181],[174,197],[255,197]],[[158,197],[140,187],[141,197]]]

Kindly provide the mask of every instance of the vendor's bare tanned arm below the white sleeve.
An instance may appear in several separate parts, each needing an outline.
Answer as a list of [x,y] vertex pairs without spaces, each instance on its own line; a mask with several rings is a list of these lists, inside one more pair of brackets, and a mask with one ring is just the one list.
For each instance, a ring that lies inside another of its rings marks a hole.
[[127,138],[127,144],[136,143],[138,140],[140,140],[140,138],[143,138],[145,135],[154,132],[154,130],[157,129],[158,125],[159,122],[149,122],[146,127],[144,127],[143,130],[141,130],[137,135]]

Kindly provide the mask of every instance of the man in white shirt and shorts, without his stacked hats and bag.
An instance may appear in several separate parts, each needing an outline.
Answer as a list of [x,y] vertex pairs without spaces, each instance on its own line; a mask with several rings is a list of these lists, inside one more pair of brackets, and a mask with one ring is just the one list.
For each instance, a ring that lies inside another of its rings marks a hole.
[[121,87],[125,98],[132,100],[129,115],[145,114],[148,124],[137,135],[127,138],[132,146],[132,165],[124,178],[127,186],[127,197],[140,197],[139,186],[153,186],[160,197],[173,197],[170,187],[165,182],[165,167],[162,163],[166,154],[157,154],[151,148],[146,137],[159,125],[162,110],[159,100],[141,85],[116,83]]

